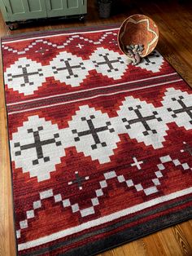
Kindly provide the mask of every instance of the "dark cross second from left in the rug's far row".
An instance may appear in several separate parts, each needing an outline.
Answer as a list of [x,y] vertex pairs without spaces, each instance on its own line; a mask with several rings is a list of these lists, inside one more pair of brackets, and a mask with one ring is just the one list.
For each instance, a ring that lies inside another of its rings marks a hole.
[[63,68],[56,68],[56,67],[52,67],[54,70],[54,73],[57,74],[59,71],[62,70],[68,70],[68,74],[69,76],[67,76],[67,79],[70,79],[72,77],[78,77],[78,75],[76,73],[73,73],[72,69],[76,69],[76,68],[81,68],[82,70],[85,69],[84,64],[81,62],[79,65],[70,65],[69,61],[72,60],[71,58],[68,58],[67,60],[63,60],[61,59],[61,62],[64,62],[65,67]]

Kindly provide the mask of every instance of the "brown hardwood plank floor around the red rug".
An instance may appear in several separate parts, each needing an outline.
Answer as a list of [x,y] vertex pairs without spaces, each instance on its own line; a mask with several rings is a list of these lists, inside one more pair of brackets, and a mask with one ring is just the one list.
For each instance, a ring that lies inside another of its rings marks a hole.
[[[85,23],[74,20],[60,20],[44,24],[27,24],[15,31],[10,31],[0,15],[0,35],[25,33],[45,29],[62,29],[74,26],[94,24],[111,24],[122,22],[127,16],[143,13],[151,16],[159,26],[158,50],[169,61],[177,72],[192,86],[192,6],[187,1],[127,1],[116,0],[110,19],[98,18],[94,0],[88,0],[88,15]],[[15,255],[15,236],[11,198],[11,170],[7,141],[7,115],[4,103],[2,80],[0,86],[0,255]],[[99,256],[142,256],[142,255],[192,255],[192,220],[169,227],[163,231],[146,236],[111,249]]]

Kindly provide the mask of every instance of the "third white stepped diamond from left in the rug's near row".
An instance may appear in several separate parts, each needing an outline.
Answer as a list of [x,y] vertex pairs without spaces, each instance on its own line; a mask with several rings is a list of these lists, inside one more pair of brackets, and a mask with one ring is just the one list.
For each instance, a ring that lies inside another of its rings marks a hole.
[[131,139],[144,142],[146,146],[163,147],[168,126],[161,115],[161,108],[130,96],[125,98],[117,113],[119,122],[116,121],[116,130],[119,134],[127,133]]

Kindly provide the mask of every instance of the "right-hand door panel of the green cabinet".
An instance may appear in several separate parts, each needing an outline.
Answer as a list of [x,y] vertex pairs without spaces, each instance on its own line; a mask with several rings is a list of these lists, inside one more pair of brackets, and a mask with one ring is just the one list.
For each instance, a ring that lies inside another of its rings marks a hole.
[[86,13],[86,0],[46,0],[49,17]]

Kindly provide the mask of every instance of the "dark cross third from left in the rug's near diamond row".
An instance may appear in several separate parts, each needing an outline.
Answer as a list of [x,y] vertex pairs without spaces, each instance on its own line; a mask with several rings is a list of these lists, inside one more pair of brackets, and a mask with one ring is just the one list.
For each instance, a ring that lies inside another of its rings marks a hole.
[[[148,125],[147,121],[150,120],[154,120],[156,119],[157,121],[162,121],[162,119],[160,117],[156,117],[156,115],[158,115],[158,113],[156,111],[153,112],[153,115],[148,116],[148,117],[143,117],[142,113],[139,111],[139,109],[141,109],[142,107],[140,105],[136,106],[136,109],[134,109],[133,107],[129,107],[129,111],[134,111],[134,113],[136,113],[137,118],[133,119],[133,120],[127,120],[127,118],[122,118],[123,122],[128,122],[128,125],[125,126],[126,129],[130,129],[131,125],[137,123],[137,122],[142,122],[142,125],[145,127],[145,131],[143,131],[143,135],[149,135],[149,131],[151,130],[150,126]],[[153,134],[156,134],[157,131],[156,130],[151,130]]]

